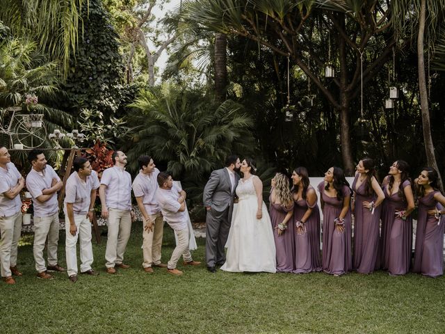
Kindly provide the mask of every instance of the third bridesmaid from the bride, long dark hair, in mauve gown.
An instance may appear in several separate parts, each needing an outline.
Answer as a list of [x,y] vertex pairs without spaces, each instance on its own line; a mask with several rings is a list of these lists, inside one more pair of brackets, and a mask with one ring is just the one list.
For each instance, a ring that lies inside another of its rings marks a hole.
[[350,249],[351,216],[348,181],[343,170],[331,167],[318,184],[323,209],[323,271],[340,276],[353,268]]

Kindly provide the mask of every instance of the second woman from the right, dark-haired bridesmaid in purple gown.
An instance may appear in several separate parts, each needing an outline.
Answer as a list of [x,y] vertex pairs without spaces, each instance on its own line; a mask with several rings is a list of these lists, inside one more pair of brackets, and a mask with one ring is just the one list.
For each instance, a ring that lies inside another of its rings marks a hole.
[[382,209],[381,254],[382,269],[389,275],[404,275],[410,270],[412,247],[412,217],[414,196],[408,170],[410,166],[398,160],[389,167],[383,180],[385,205]]

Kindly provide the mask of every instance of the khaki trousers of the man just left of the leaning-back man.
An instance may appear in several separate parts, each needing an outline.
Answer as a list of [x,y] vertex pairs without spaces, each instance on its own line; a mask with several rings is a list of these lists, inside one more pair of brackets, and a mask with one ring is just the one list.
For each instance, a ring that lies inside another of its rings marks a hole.
[[149,215],[151,221],[154,221],[153,230],[143,230],[143,255],[144,262],[142,267],[152,267],[152,264],[160,264],[161,263],[161,247],[162,247],[162,236],[164,231],[164,222],[161,212],[157,214]]

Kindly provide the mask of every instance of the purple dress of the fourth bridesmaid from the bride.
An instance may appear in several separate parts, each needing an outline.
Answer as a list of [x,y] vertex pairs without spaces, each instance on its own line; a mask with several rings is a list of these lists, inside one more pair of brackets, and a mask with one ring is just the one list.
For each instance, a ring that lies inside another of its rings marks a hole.
[[366,195],[364,182],[357,188],[358,177],[359,174],[355,175],[353,182],[353,191],[355,192],[353,268],[358,273],[372,273],[377,269],[382,205],[375,207],[374,212],[363,206],[363,202],[372,202],[376,196],[375,193],[371,196]]

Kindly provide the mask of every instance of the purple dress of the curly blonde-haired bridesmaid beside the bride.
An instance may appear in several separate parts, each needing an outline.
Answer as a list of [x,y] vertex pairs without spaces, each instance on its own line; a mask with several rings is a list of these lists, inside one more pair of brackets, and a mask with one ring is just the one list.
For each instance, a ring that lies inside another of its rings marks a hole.
[[295,249],[294,227],[292,217],[287,223],[284,233],[278,235],[278,224],[282,223],[286,214],[293,210],[282,204],[274,204],[272,196],[269,196],[270,202],[270,221],[273,229],[273,239],[275,240],[275,248],[277,250],[277,271],[282,273],[291,273],[293,271],[293,253]]

